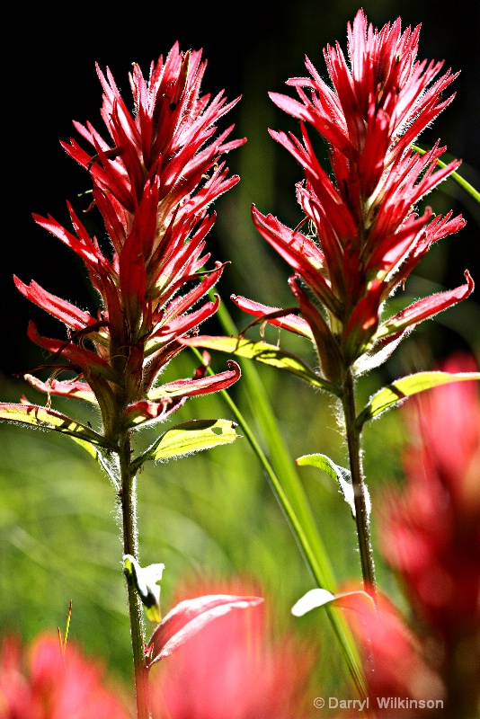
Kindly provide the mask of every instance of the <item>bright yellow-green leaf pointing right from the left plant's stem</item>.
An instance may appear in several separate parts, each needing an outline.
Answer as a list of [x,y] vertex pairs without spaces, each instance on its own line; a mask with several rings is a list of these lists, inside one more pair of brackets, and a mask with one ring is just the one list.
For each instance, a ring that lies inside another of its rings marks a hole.
[[192,420],[171,427],[133,462],[134,471],[148,459],[182,457],[220,444],[231,444],[239,434],[231,420]]

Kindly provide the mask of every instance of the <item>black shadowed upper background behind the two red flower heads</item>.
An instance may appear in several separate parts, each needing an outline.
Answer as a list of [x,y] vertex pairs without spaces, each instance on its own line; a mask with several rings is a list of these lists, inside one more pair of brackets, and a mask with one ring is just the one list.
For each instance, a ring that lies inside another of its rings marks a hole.
[[[0,372],[8,377],[43,361],[39,348],[25,335],[29,318],[35,320],[42,334],[61,337],[65,332],[56,320],[16,291],[13,273],[25,282],[35,279],[58,296],[93,310],[94,298],[80,263],[58,240],[35,226],[31,212],[51,213],[67,222],[66,200],[71,200],[78,211],[88,204],[88,197],[77,197],[88,190],[87,175],[67,157],[58,141],[76,134],[71,125],[74,119],[91,120],[104,134],[95,61],[102,68],[111,67],[129,104],[131,63],[138,62],[147,74],[150,61],[165,55],[175,40],[182,50],[203,49],[209,63],[203,92],[217,93],[225,88],[228,99],[243,94],[242,102],[221,126],[235,121],[236,136],[247,136],[249,142],[228,157],[232,171],[241,174],[242,182],[217,203],[219,218],[212,237],[212,257],[232,261],[220,292],[224,297],[234,291],[264,302],[291,303],[284,281],[288,271],[263,246],[249,219],[249,207],[254,202],[287,224],[293,226],[298,221],[293,186],[300,179],[299,169],[267,134],[268,127],[289,129],[293,125],[272,105],[267,93],[283,91],[290,76],[305,75],[306,54],[325,77],[322,49],[334,40],[345,49],[346,23],[359,7],[351,0],[221,5],[100,0],[9,5],[4,14],[4,48],[8,50],[3,64]],[[471,5],[463,0],[449,4],[437,0],[367,0],[363,7],[369,21],[378,27],[399,14],[403,27],[422,23],[420,57],[445,59],[445,69],[461,70],[453,85],[457,98],[433,128],[425,131],[422,142],[431,145],[441,138],[453,156],[464,159],[461,172],[480,188],[478,8],[473,14]],[[431,195],[433,209],[462,212],[468,225],[432,251],[430,263],[421,270],[425,287],[433,289],[457,287],[464,281],[466,267],[480,281],[478,207],[453,183],[442,187],[442,192]],[[94,222],[94,217],[90,219]],[[468,303],[462,315],[463,328],[447,322],[441,331],[433,333],[434,357],[457,347],[478,346],[480,310],[476,299]]]

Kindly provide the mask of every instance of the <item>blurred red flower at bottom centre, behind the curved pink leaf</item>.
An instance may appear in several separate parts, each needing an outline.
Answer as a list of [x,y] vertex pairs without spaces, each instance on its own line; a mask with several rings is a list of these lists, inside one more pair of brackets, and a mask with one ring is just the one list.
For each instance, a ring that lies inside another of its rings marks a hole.
[[[193,590],[210,592],[211,586]],[[259,592],[243,585],[233,593]],[[273,641],[268,627],[264,605],[233,610],[157,664],[150,681],[153,719],[307,716],[307,706],[312,706],[311,701],[306,704],[312,648],[293,636]]]

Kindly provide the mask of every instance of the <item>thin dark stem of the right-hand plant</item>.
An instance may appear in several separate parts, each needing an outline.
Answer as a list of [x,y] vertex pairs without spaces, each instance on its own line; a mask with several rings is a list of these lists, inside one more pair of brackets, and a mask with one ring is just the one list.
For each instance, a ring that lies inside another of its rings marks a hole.
[[366,591],[376,597],[375,566],[370,540],[369,513],[365,502],[365,483],[360,452],[360,431],[355,425],[355,386],[351,368],[347,370],[343,383],[343,413],[350,457],[351,485],[355,502],[355,521],[359,539],[361,573]]

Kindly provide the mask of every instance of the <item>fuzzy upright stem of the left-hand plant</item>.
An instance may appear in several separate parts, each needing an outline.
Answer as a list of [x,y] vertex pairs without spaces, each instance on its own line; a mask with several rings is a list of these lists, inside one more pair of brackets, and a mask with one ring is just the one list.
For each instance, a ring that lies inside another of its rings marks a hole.
[[[137,488],[136,477],[131,468],[131,445],[129,432],[120,439],[120,505],[123,534],[123,554],[138,560],[137,541]],[[135,671],[137,696],[137,719],[149,719],[148,670],[145,664],[145,632],[142,605],[131,575],[126,574],[129,596],[130,635]]]

